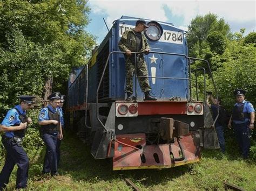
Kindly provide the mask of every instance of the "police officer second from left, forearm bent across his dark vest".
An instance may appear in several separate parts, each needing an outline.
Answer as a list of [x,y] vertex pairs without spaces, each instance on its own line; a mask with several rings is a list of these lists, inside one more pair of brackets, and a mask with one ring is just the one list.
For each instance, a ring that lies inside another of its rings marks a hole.
[[48,97],[50,104],[43,108],[39,114],[38,124],[41,125],[42,139],[46,145],[43,174],[59,175],[57,169],[56,145],[57,136],[63,138],[60,124],[60,113],[57,107],[60,103],[60,93],[55,92]]

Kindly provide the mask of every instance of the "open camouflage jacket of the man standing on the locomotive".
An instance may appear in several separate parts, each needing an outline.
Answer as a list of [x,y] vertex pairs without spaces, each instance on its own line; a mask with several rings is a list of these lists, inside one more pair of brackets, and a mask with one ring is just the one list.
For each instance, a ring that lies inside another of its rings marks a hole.
[[[118,43],[120,51],[125,52],[130,50],[132,52],[136,52],[136,46],[136,34],[134,33],[133,29],[126,30]],[[146,48],[150,47],[147,43],[144,32],[142,32],[142,48],[138,52],[145,51]]]

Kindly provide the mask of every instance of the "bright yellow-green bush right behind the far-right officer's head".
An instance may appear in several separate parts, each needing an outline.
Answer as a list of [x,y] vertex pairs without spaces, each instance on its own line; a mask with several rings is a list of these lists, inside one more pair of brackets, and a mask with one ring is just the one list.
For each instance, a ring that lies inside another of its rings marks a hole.
[[233,107],[235,102],[233,90],[237,88],[247,90],[246,98],[255,105],[256,48],[252,44],[242,46],[239,42],[232,41],[223,57],[226,60],[217,63],[221,67],[213,72],[213,76],[225,107],[228,109]]

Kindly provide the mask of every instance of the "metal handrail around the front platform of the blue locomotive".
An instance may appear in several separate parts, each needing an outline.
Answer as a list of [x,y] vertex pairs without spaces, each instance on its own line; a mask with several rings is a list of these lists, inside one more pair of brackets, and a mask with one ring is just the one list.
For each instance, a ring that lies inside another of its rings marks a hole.
[[[98,93],[99,93],[99,88],[100,88],[100,85],[102,84],[102,81],[103,81],[103,77],[104,77],[104,74],[105,74],[105,71],[106,71],[106,67],[109,65],[109,58],[110,58],[110,55],[112,54],[124,54],[125,52],[121,52],[121,51],[113,51],[113,52],[110,52],[109,55],[107,56],[107,60],[106,60],[106,63],[105,63],[105,67],[104,67],[104,70],[103,70],[103,73],[102,73],[102,76],[100,77],[100,81],[99,81],[99,84],[98,84],[98,88],[97,88],[97,91],[96,91],[96,108],[97,108],[97,112],[96,112],[96,116],[97,116],[97,119],[99,121],[99,123],[103,126],[104,130],[107,131],[107,129],[105,128],[105,125],[102,123],[102,121],[100,121],[99,119],[99,112],[98,112]],[[142,54],[142,53],[145,53],[145,52],[131,52],[132,54],[134,54],[134,56],[136,56],[137,54]],[[208,70],[210,72],[210,76],[211,76],[211,79],[212,79],[212,82],[213,82],[213,87],[214,87],[214,90],[216,92],[216,98],[218,100],[218,91],[217,91],[217,88],[215,86],[215,82],[213,80],[213,76],[212,76],[212,71],[211,71],[211,67],[210,67],[210,64],[207,60],[204,60],[204,59],[199,59],[199,58],[193,58],[193,57],[190,57],[190,56],[187,56],[186,54],[178,54],[178,53],[169,53],[169,52],[157,52],[157,51],[150,51],[150,53],[157,53],[157,54],[166,54],[166,55],[177,55],[177,56],[184,56],[186,59],[188,59],[188,67],[190,67],[191,65],[191,62],[190,60],[199,60],[199,61],[203,61],[203,62],[206,62],[207,63],[207,66],[208,66]],[[137,76],[137,59],[135,59],[135,77],[136,79],[138,77],[144,77],[144,76]],[[192,95],[191,94],[191,69],[189,68],[189,73],[190,73],[190,96]],[[146,76],[145,76],[146,77]],[[150,76],[147,76],[147,77],[150,77]],[[156,78],[162,78],[163,77],[156,77]],[[137,98],[137,81],[135,82],[135,94],[136,94],[136,98]],[[191,97],[190,97],[191,99]],[[191,99],[192,100],[192,99]],[[218,104],[218,103],[217,103]],[[219,116],[219,107],[218,108],[218,115]],[[215,124],[215,122],[217,121],[217,118],[214,120],[213,122],[213,126]]]

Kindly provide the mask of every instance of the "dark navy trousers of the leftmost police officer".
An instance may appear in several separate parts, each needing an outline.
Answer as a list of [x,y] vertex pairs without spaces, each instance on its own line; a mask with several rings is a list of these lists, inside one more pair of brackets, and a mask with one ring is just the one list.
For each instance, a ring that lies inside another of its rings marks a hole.
[[16,187],[17,189],[26,188],[29,174],[28,155],[26,155],[23,147],[18,146],[14,140],[8,138],[3,139],[4,140],[2,142],[6,149],[7,157],[0,175],[0,190],[5,188],[5,184],[8,184],[12,169],[14,169],[15,164],[18,165]]

